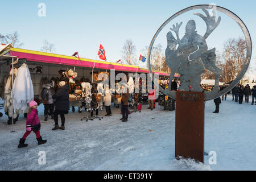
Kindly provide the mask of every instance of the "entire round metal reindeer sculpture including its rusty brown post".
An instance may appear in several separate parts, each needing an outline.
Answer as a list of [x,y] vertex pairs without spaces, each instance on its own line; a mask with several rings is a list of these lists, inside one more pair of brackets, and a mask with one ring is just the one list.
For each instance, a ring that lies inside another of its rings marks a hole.
[[[172,32],[167,33],[167,48],[166,48],[166,64],[171,68],[171,75],[169,86],[164,90],[161,86],[159,90],[167,96],[176,99],[176,112],[175,112],[175,158],[179,159],[180,156],[184,158],[193,158],[197,161],[204,162],[204,105],[205,101],[213,98],[220,97],[222,94],[231,90],[245,74],[249,67],[251,58],[251,38],[249,31],[242,20],[232,13],[220,6],[210,5],[197,5],[191,6],[187,9],[181,10],[175,15],[171,16],[162,26],[158,29],[148,49],[148,69],[153,75],[150,64],[150,56],[153,44],[156,37],[162,29],[177,16],[190,11],[200,9],[203,10],[205,15],[194,13],[200,16],[207,24],[207,31],[204,36],[197,34],[196,22],[193,19],[188,20],[185,26],[185,35],[179,38],[179,30],[182,25],[176,23],[173,25],[171,31],[175,32],[176,39]],[[211,16],[206,9],[213,9]],[[219,16],[216,20],[216,11],[220,11],[232,19],[234,19],[242,28],[243,34],[246,39],[246,60],[243,64],[242,70],[237,78],[224,90],[219,92],[218,82],[221,75],[220,68],[216,67],[216,54],[215,48],[209,49],[206,39],[218,27],[221,22]],[[215,85],[212,92],[201,92],[203,89],[200,86],[201,73],[207,69],[215,74]],[[175,73],[180,74],[179,91],[171,90],[171,81]],[[153,76],[152,76],[153,77]],[[189,92],[193,91],[193,92]]]

